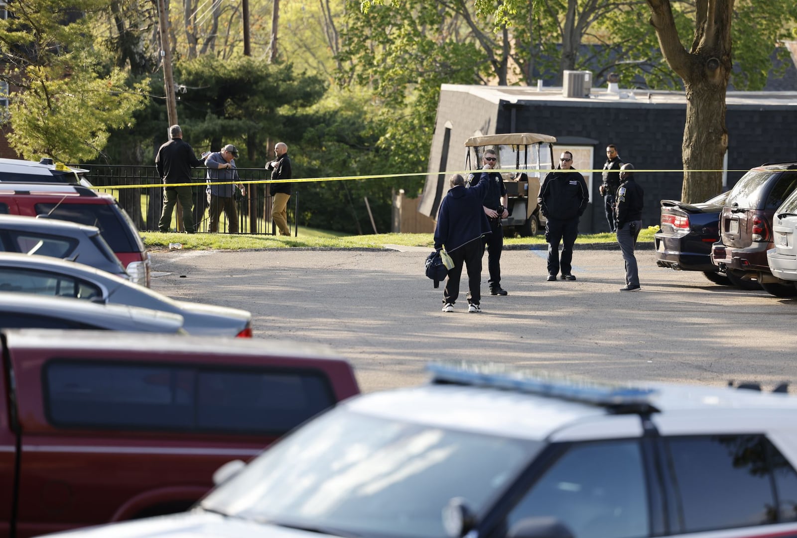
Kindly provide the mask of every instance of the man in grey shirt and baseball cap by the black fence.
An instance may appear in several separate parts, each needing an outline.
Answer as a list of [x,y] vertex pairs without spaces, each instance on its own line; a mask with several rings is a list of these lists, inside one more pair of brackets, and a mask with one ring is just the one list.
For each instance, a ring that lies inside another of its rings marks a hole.
[[235,158],[238,149],[227,144],[221,151],[211,153],[205,158],[207,166],[207,202],[210,212],[210,233],[218,232],[218,219],[222,210],[227,216],[227,232],[238,233],[238,211],[235,208],[235,186],[245,195],[246,190],[238,177]]

